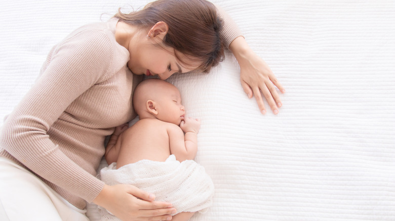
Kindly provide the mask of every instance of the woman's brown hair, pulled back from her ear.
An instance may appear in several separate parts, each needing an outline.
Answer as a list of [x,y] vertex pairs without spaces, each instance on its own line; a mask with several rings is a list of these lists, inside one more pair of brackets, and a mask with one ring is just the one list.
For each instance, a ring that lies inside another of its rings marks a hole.
[[[186,56],[198,58],[202,61],[198,70],[203,72],[209,72],[224,59],[224,40],[219,33],[222,20],[216,7],[205,0],[158,0],[130,14],[119,9],[114,17],[143,28],[165,22],[169,30],[163,43]],[[177,54],[176,58],[180,60]]]

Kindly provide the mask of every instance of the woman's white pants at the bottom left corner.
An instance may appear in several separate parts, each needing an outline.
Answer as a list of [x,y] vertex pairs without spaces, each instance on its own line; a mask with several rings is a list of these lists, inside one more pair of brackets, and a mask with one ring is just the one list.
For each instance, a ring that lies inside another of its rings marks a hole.
[[88,221],[78,209],[38,177],[0,157],[0,220]]

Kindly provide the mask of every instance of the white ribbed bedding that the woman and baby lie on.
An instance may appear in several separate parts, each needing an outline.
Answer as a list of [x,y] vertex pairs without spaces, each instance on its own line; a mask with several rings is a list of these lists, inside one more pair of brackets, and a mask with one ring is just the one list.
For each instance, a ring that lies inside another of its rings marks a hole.
[[[0,117],[71,30],[147,2],[3,1]],[[196,161],[216,189],[191,220],[395,220],[395,1],[213,2],[287,92],[279,115],[261,115],[230,54],[170,79],[201,119]]]

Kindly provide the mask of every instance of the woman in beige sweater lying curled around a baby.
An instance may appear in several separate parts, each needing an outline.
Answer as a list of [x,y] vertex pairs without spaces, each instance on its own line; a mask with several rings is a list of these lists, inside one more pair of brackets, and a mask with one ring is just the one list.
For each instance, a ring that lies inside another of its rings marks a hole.
[[211,3],[162,0],[81,27],[56,45],[4,124],[0,219],[87,220],[86,201],[124,220],[171,219],[170,203],[133,186],[107,186],[95,177],[96,168],[105,136],[136,116],[131,95],[143,75],[209,71],[223,57],[223,42],[241,65],[249,97],[255,95],[264,113],[262,91],[276,112],[281,101],[271,82],[281,85],[220,15],[226,24],[221,34]]

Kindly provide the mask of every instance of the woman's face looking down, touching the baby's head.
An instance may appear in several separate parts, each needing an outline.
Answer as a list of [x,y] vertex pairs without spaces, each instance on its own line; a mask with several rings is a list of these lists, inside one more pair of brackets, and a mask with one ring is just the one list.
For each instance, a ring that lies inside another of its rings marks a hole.
[[[189,62],[184,65],[175,56],[172,47],[155,45],[149,42],[139,44],[130,52],[130,60],[128,67],[133,74],[158,76],[162,80],[166,80],[175,73],[187,73],[195,70],[200,66],[199,62]],[[185,61],[186,57],[182,53],[177,53],[181,60]],[[197,61],[197,59],[194,59]]]

